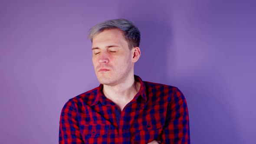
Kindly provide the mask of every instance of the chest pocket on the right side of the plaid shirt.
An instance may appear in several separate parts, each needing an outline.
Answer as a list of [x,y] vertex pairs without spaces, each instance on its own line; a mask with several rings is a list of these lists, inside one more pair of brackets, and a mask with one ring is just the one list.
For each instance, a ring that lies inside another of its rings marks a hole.
[[135,124],[135,144],[147,144],[162,139],[165,119],[160,117],[142,118]]

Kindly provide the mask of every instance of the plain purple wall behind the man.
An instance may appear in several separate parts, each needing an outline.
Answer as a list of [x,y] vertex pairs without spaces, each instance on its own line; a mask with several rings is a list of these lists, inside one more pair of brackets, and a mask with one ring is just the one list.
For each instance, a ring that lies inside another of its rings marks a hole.
[[65,102],[98,86],[89,28],[127,18],[141,29],[135,74],[181,89],[191,144],[255,144],[255,4],[1,0],[0,143],[58,143]]

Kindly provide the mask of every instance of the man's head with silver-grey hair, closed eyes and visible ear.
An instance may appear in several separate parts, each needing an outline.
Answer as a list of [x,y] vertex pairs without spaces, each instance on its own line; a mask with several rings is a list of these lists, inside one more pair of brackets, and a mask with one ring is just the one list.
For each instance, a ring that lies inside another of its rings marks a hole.
[[108,20],[92,27],[92,62],[100,83],[118,85],[133,78],[140,57],[140,31],[125,19]]

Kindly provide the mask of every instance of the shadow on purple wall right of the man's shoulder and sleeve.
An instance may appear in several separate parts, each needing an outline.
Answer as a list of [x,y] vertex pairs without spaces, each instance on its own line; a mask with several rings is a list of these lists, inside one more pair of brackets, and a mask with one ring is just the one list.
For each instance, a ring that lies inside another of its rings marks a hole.
[[194,144],[242,144],[231,115],[225,78],[217,69],[197,69],[177,78],[187,99],[190,138]]

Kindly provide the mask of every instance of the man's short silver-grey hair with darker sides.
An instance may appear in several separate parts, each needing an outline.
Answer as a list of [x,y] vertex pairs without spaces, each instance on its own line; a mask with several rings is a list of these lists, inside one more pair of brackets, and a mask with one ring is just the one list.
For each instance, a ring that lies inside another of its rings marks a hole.
[[135,26],[134,23],[126,19],[107,20],[96,24],[90,29],[89,39],[92,41],[93,37],[98,33],[101,33],[106,29],[115,28],[120,29],[124,33],[124,37],[130,49],[140,45],[140,30]]

